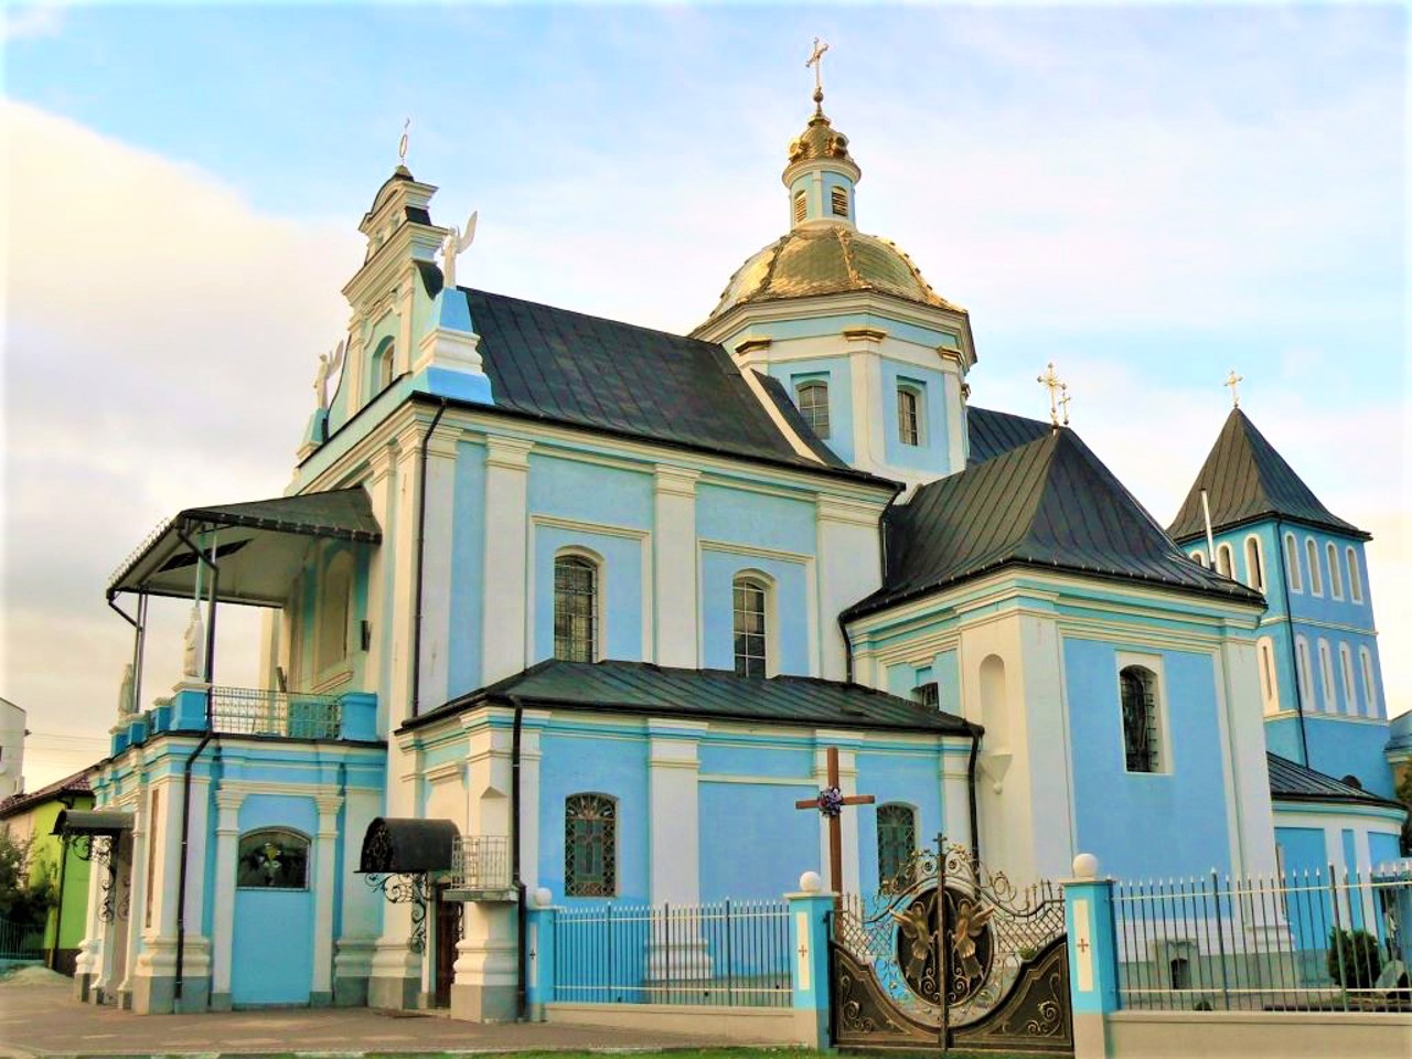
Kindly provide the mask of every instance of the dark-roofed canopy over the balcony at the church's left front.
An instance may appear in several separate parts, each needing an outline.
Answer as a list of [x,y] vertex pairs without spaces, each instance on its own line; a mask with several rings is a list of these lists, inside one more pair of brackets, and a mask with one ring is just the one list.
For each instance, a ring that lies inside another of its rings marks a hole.
[[[107,597],[120,592],[191,599],[202,563],[193,546],[220,572],[216,600],[282,607],[299,573],[311,538],[378,544],[381,527],[361,487],[302,493],[244,504],[191,507],[160,525],[119,568]],[[210,572],[201,573],[209,592]]]

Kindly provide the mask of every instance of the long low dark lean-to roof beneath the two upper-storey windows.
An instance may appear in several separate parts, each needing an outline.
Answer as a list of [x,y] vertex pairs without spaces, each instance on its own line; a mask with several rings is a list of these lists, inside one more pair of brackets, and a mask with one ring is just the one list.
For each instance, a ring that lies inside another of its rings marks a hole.
[[911,699],[812,676],[737,676],[724,669],[672,669],[647,662],[551,659],[409,720],[404,727],[486,702],[695,720],[741,720],[966,736],[979,726]]

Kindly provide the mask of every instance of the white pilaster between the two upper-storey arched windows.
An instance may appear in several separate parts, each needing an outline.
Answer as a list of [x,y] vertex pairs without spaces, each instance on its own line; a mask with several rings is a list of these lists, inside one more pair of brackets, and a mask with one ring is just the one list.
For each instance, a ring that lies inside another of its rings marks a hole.
[[658,465],[654,481],[652,602],[658,665],[695,669],[696,638],[696,479],[695,470]]

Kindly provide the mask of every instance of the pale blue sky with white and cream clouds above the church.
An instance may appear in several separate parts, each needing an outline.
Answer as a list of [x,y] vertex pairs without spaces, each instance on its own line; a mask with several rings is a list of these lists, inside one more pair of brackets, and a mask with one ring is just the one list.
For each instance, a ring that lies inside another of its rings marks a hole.
[[[109,575],[278,496],[397,164],[480,212],[460,282],[686,332],[788,226],[812,109],[857,220],[970,311],[973,402],[1073,426],[1168,522],[1241,407],[1368,551],[1412,709],[1408,24],[1337,6],[11,6],[0,696],[34,789],[103,755]],[[144,699],[179,672],[154,602]],[[222,607],[217,681],[253,683]]]

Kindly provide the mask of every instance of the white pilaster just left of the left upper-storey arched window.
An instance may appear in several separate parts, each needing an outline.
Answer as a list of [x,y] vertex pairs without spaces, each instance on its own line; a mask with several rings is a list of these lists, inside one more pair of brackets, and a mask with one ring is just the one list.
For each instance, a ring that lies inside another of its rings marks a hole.
[[525,631],[528,585],[528,491],[532,442],[486,438],[486,576],[481,683],[531,664]]

